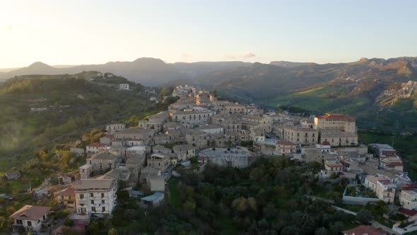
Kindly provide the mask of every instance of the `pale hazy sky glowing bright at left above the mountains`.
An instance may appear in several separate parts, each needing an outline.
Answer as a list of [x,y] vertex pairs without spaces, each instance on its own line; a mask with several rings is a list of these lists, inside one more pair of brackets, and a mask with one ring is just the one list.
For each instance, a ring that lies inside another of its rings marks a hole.
[[0,0],[0,67],[417,56],[417,1]]

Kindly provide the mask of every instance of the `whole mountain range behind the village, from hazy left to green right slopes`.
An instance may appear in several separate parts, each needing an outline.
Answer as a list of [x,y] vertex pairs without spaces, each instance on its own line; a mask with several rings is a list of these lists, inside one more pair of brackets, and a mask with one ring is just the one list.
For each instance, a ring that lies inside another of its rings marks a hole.
[[[417,120],[417,57],[362,58],[356,62],[177,62],[139,58],[133,62],[51,67],[35,62],[0,73],[0,79],[24,74],[111,72],[145,86],[198,84],[236,101],[266,108],[298,107],[314,113],[340,111],[370,119],[375,112]],[[409,92],[409,93],[404,93]],[[385,115],[385,114],[383,114]],[[417,121],[416,121],[417,122]],[[417,126],[417,123],[416,123]]]

